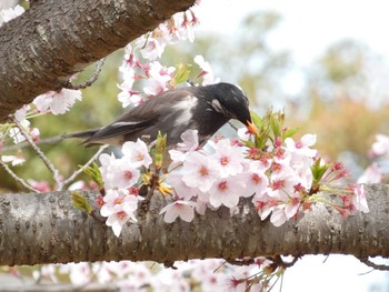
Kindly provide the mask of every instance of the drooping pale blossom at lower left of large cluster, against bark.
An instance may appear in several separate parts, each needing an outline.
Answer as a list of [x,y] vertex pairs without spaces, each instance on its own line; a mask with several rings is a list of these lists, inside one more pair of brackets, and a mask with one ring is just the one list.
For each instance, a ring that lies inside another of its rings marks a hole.
[[173,222],[178,217],[186,222],[191,222],[194,218],[194,207],[193,202],[179,200],[163,207],[159,213],[164,213],[163,220],[167,223]]

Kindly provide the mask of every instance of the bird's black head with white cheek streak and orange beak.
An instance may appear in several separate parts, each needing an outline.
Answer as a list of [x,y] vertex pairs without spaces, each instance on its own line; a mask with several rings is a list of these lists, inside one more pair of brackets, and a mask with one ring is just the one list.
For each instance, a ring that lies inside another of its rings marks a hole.
[[242,122],[251,133],[256,133],[256,128],[251,123],[249,100],[238,87],[220,82],[209,85],[209,88],[213,93],[210,104],[215,111],[227,119]]

